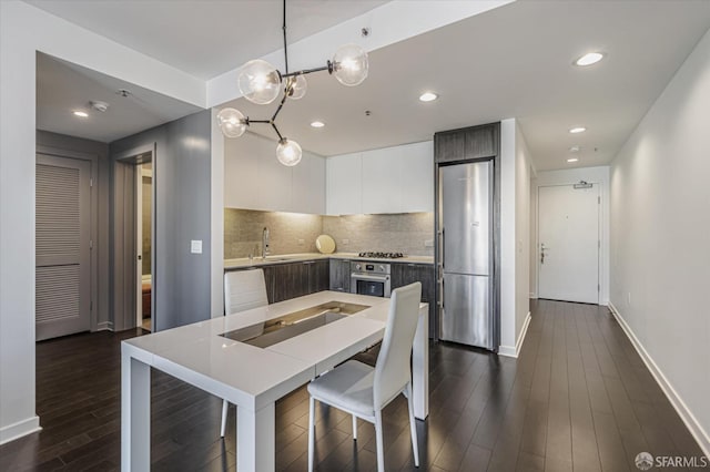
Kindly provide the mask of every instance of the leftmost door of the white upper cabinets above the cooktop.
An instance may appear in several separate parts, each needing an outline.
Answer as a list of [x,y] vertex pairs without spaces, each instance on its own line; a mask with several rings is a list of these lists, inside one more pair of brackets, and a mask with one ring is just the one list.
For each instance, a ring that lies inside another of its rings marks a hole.
[[326,167],[326,213],[355,215],[363,213],[361,153],[329,157]]

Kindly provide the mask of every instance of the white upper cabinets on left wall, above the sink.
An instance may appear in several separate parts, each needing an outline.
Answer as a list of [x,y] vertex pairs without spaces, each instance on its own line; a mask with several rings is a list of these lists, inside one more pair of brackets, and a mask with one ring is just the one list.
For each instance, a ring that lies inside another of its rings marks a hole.
[[230,208],[325,213],[325,160],[303,153],[298,165],[276,160],[276,144],[245,135],[224,143],[224,206]]

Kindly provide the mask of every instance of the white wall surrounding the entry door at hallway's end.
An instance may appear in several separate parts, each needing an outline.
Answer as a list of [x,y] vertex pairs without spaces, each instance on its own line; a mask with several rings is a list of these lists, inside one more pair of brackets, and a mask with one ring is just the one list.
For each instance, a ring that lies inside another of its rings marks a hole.
[[599,304],[607,305],[609,302],[609,167],[578,167],[561,171],[544,171],[538,172],[532,183],[532,213],[535,214],[535,230],[531,237],[530,250],[530,296],[537,298],[537,276],[538,276],[538,188],[548,185],[572,185],[579,181],[589,182],[599,185],[601,195],[601,217],[600,217],[600,237],[601,252],[599,253]]

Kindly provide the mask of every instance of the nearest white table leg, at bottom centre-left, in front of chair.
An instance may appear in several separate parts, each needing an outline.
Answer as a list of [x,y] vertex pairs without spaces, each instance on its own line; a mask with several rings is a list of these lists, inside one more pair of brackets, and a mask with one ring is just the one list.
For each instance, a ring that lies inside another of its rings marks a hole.
[[258,411],[236,407],[236,470],[270,472],[276,468],[275,403]]

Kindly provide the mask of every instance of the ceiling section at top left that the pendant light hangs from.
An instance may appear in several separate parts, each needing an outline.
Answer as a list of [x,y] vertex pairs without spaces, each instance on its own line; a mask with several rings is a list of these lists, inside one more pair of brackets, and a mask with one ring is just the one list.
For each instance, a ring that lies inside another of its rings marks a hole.
[[[202,80],[283,48],[281,0],[26,0]],[[288,0],[291,43],[385,0]]]

